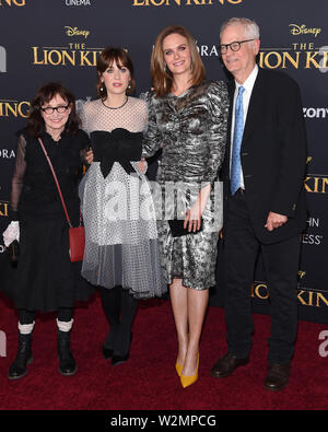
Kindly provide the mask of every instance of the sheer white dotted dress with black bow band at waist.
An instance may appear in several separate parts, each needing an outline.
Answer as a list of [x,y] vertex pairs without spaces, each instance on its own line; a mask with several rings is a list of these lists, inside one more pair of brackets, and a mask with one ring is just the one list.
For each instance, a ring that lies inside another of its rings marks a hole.
[[129,97],[121,108],[110,109],[97,100],[84,104],[80,115],[94,153],[82,191],[82,276],[95,285],[121,285],[137,299],[161,296],[167,288],[154,205],[149,182],[137,167],[147,104]]

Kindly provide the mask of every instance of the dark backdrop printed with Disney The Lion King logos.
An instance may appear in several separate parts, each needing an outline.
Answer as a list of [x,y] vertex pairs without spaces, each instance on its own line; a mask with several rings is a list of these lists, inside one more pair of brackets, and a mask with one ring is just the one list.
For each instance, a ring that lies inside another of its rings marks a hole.
[[[15,131],[30,101],[47,81],[61,81],[78,108],[96,97],[95,63],[107,45],[126,48],[138,96],[151,86],[149,63],[159,32],[185,25],[211,80],[226,80],[218,45],[221,23],[255,19],[261,30],[259,66],[283,70],[300,84],[308,135],[309,214],[303,234],[297,299],[300,319],[328,323],[328,3],[327,0],[0,0],[0,233],[7,227]],[[156,161],[150,172],[156,168]],[[222,244],[211,305],[223,305]],[[8,266],[0,235],[0,283]],[[254,311],[269,313],[261,258],[250,288]]]

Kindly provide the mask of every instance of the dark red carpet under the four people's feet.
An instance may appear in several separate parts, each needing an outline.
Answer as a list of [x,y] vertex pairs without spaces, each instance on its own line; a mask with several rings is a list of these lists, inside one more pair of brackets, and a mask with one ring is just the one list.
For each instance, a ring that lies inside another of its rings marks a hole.
[[271,393],[263,388],[270,319],[254,315],[254,320],[250,363],[229,378],[215,380],[210,369],[225,353],[225,325],[223,310],[211,307],[201,341],[199,380],[184,389],[174,367],[176,337],[169,303],[141,302],[130,360],[113,367],[101,354],[107,327],[96,296],[75,312],[72,348],[77,375],[65,377],[57,371],[56,323],[47,315],[36,322],[28,374],[11,382],[7,372],[16,353],[17,319],[0,295],[0,330],[8,342],[7,357],[0,357],[0,409],[327,409],[328,357],[318,352],[318,337],[327,326],[300,323],[290,385]]

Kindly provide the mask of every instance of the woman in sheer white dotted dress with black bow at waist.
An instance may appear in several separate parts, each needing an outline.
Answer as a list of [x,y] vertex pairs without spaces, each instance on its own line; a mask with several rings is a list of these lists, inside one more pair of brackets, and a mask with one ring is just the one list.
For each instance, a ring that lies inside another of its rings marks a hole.
[[121,48],[103,50],[97,74],[99,98],[81,113],[93,151],[83,192],[82,276],[101,288],[110,326],[103,353],[115,365],[129,357],[138,299],[161,296],[166,287],[151,190],[138,165],[147,104],[127,95],[134,87],[133,65]]

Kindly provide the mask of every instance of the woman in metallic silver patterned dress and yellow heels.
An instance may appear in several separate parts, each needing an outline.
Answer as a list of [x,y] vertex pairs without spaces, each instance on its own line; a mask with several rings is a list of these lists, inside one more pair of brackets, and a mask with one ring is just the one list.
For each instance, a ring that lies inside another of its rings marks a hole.
[[[202,61],[185,27],[169,26],[159,34],[151,73],[154,90],[145,96],[149,125],[143,156],[163,149],[157,182],[165,211],[157,229],[177,330],[176,371],[187,387],[198,378],[209,288],[215,285],[222,214],[218,172],[224,156],[229,100],[223,82],[203,81]],[[172,219],[183,219],[179,233],[174,229],[179,222]]]

